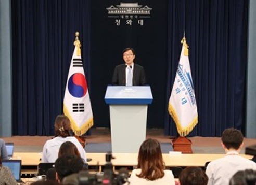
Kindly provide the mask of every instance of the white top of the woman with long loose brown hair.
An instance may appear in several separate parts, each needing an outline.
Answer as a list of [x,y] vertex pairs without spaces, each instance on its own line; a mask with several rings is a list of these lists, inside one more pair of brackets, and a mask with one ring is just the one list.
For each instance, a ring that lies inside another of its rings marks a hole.
[[136,174],[140,174],[141,169],[134,169],[132,175],[129,179],[130,185],[175,185],[174,176],[171,170],[164,170],[164,176],[161,179],[157,180],[147,180],[144,178],[139,178]]

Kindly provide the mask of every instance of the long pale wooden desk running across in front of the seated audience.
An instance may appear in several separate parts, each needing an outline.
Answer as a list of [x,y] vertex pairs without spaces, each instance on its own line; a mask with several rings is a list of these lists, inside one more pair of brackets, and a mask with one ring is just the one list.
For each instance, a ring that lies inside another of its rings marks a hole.
[[[106,164],[105,153],[87,153],[87,158],[92,160],[88,162],[89,170],[93,169],[95,172],[101,172]],[[14,153],[13,159],[22,160],[22,173],[33,172],[39,163],[41,163],[41,153],[29,153],[29,152],[17,152]],[[115,158],[111,162],[113,164],[113,170],[118,170],[121,167],[127,169],[133,169],[134,165],[137,165],[137,153],[112,153]],[[208,161],[213,161],[225,156],[225,154],[163,154],[163,159],[167,167],[171,166],[199,166],[204,167],[204,164]],[[251,159],[252,155],[241,154],[244,158]]]

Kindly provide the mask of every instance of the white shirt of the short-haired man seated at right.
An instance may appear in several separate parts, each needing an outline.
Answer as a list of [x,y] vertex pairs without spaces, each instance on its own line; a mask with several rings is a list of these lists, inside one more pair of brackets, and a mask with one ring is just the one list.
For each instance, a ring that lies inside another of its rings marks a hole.
[[256,170],[256,163],[239,156],[236,151],[229,151],[224,158],[208,164],[206,168],[209,178],[208,185],[228,185],[229,180],[236,172],[245,169]]

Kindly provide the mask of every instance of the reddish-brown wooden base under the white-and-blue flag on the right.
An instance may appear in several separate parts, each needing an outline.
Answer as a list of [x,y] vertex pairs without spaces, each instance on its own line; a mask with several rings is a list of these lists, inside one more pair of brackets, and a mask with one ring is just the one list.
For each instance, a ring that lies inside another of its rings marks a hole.
[[192,141],[186,137],[179,136],[178,138],[174,139],[172,143],[174,151],[180,151],[182,153],[193,153],[191,149]]

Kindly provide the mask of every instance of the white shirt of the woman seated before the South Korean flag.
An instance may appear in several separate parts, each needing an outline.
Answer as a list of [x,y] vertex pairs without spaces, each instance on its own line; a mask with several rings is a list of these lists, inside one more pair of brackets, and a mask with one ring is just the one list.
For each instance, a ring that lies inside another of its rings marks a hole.
[[78,148],[78,151],[80,152],[81,158],[84,159],[84,162],[86,162],[86,152],[82,145],[79,143],[78,139],[76,139],[73,136],[69,137],[55,137],[53,139],[47,140],[44,144],[43,148],[43,156],[42,156],[42,162],[43,163],[54,163],[56,159],[58,158],[59,148],[62,143],[70,141],[72,142],[76,148]]

